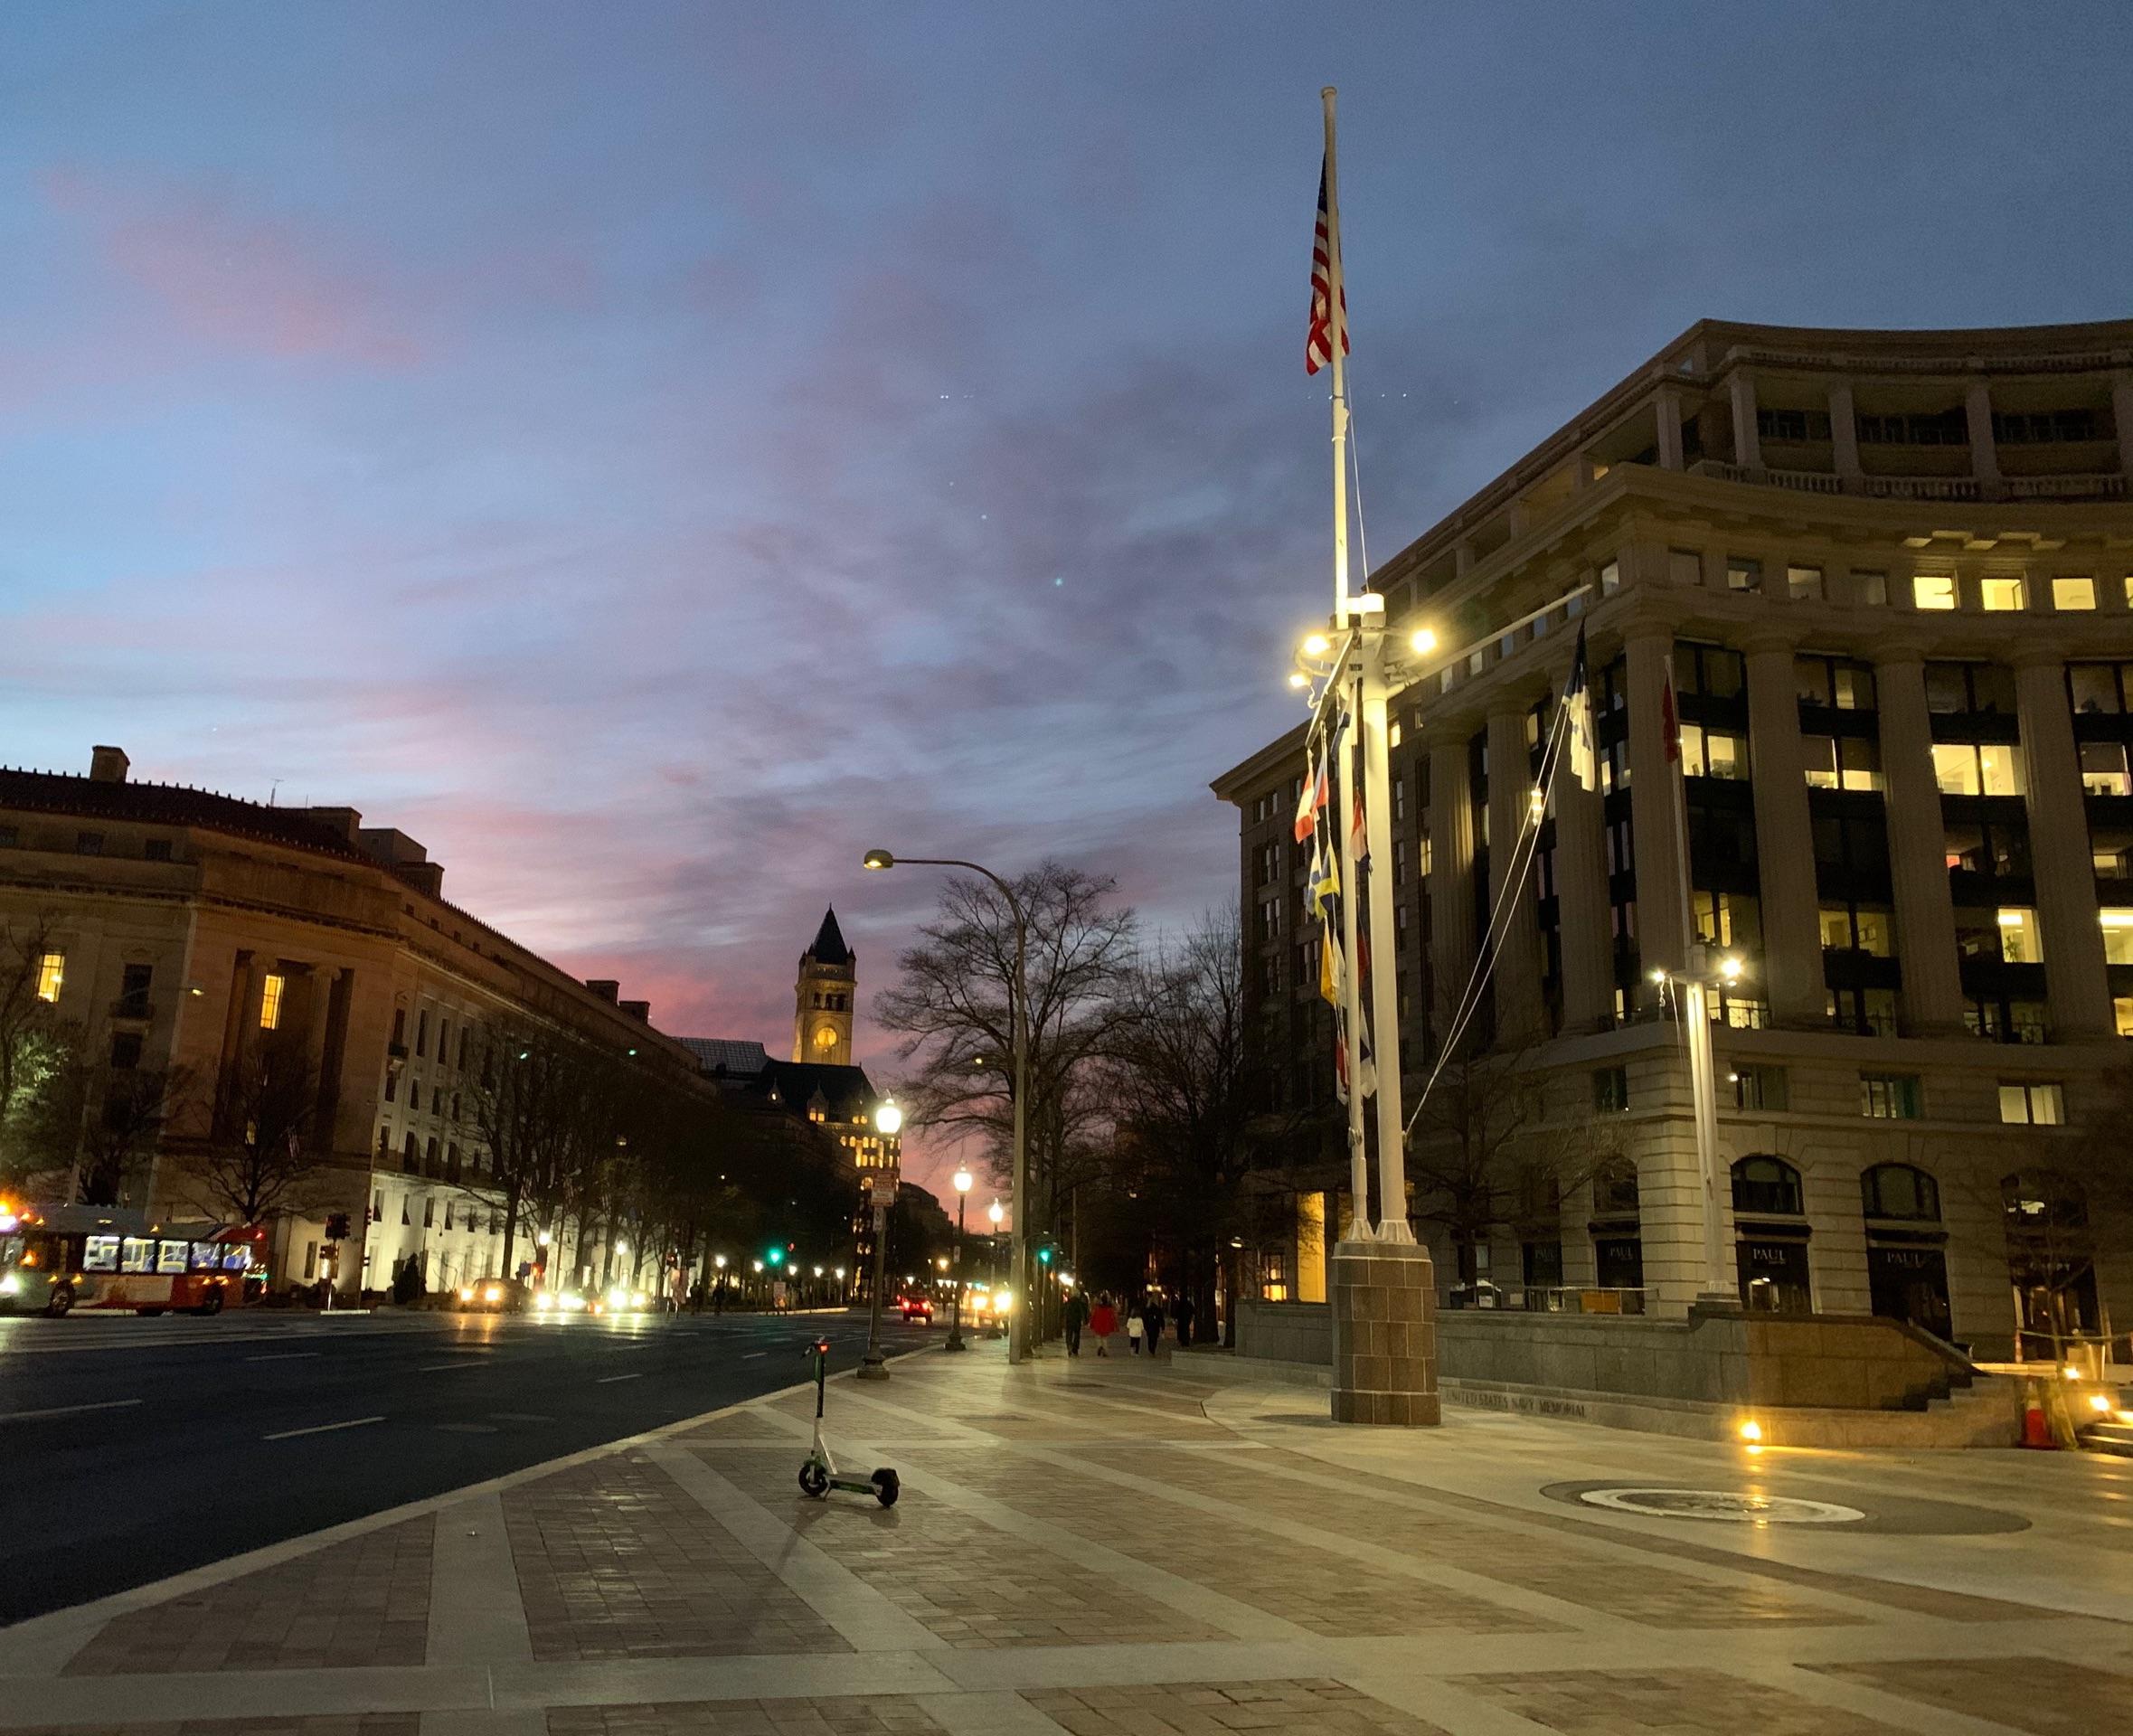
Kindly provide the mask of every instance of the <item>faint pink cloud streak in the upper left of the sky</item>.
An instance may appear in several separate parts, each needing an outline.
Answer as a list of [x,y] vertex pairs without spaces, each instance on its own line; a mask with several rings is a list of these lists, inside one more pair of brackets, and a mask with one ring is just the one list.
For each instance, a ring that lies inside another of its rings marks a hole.
[[375,275],[333,260],[331,245],[294,222],[239,209],[226,192],[128,188],[55,168],[45,196],[90,226],[109,262],[192,337],[384,369],[420,358]]

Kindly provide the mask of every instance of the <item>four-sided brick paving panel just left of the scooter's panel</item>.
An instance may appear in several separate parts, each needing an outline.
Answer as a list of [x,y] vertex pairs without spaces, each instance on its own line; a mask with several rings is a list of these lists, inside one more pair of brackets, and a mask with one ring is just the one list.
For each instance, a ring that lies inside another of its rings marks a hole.
[[503,1495],[533,1657],[729,1657],[851,1646],[634,1454]]

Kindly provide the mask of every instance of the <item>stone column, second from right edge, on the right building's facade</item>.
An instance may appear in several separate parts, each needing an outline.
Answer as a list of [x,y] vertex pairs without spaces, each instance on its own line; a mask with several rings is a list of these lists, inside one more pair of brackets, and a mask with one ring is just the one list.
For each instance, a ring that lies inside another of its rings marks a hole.
[[1932,714],[1926,661],[1915,646],[1890,646],[1875,661],[1881,714],[1881,783],[1888,866],[1896,891],[1896,958],[1903,966],[1903,1028],[1915,1036],[1964,1030],[1956,964],[1956,902],[1947,891],[1947,827],[1932,774]]

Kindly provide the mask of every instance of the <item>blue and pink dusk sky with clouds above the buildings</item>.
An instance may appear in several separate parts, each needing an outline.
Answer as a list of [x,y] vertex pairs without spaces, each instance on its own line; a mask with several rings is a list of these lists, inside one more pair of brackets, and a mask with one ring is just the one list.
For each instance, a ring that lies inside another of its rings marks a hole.
[[[0,11],[0,761],[348,804],[683,1034],[860,853],[1235,885],[1322,614],[1694,320],[2133,314],[2133,9]],[[894,1077],[862,1015],[860,1058]],[[926,1179],[926,1177],[921,1177]]]

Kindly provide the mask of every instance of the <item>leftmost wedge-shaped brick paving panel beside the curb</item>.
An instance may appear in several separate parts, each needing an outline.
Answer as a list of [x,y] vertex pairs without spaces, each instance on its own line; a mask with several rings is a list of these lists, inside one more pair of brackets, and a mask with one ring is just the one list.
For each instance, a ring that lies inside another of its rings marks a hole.
[[435,1518],[422,1514],[122,1614],[70,1676],[420,1663]]

